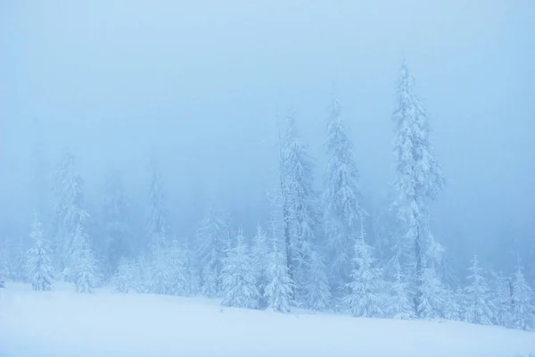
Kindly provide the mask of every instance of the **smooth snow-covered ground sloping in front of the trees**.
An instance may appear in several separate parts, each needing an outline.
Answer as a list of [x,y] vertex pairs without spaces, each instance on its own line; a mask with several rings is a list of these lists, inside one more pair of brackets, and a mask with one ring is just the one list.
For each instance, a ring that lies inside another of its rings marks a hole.
[[0,289],[0,356],[507,357],[535,333],[452,321],[222,309],[215,300]]

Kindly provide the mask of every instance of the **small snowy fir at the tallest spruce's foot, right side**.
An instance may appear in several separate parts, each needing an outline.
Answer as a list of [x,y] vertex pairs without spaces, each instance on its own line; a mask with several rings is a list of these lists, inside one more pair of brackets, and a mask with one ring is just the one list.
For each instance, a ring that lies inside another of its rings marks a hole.
[[419,279],[419,299],[416,300],[416,314],[423,319],[440,319],[443,316],[446,291],[434,268],[424,268]]

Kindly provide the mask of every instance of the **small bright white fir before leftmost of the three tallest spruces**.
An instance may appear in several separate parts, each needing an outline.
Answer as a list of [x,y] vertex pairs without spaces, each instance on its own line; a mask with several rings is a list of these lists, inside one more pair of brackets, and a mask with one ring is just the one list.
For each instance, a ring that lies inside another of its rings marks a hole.
[[269,284],[266,286],[264,296],[270,309],[287,313],[294,305],[292,300],[294,284],[288,273],[284,254],[278,246],[276,234],[272,235],[271,243],[268,266]]

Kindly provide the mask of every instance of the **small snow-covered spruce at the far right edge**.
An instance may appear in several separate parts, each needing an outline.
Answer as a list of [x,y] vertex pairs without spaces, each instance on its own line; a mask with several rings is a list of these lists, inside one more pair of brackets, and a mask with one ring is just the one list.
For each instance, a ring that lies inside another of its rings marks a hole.
[[535,320],[535,304],[533,290],[528,285],[522,267],[518,266],[514,272],[513,295],[511,299],[511,327],[519,329],[532,329]]

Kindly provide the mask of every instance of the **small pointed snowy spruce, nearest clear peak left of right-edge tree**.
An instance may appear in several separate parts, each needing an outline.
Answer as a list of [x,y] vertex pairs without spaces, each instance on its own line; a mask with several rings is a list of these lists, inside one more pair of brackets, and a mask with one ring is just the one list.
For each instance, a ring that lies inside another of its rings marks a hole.
[[481,325],[492,324],[493,316],[490,308],[490,292],[487,281],[482,276],[477,255],[474,255],[466,277],[470,285],[465,287],[465,320]]

